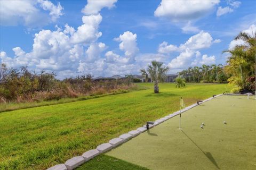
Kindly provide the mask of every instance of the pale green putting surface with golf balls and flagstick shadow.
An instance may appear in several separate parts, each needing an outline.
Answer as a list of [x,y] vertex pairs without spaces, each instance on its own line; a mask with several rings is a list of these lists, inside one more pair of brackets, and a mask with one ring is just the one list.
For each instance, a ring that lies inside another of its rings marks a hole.
[[255,116],[256,100],[220,96],[183,113],[183,130],[175,116],[107,155],[148,169],[256,169]]

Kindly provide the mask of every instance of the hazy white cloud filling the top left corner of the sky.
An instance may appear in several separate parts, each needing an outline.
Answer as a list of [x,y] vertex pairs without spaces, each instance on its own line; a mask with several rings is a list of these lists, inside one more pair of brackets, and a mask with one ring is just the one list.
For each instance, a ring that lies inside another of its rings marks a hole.
[[63,15],[63,7],[51,1],[0,1],[1,25],[25,25],[26,27],[42,27],[55,22]]

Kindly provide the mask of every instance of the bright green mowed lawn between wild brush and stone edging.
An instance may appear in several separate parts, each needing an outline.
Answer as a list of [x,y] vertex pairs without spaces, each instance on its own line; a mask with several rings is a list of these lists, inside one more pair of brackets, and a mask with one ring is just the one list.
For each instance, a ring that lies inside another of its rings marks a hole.
[[[0,113],[0,169],[45,169],[94,149],[146,121],[225,91],[226,84],[141,83],[147,90]],[[231,87],[228,87],[230,90]]]

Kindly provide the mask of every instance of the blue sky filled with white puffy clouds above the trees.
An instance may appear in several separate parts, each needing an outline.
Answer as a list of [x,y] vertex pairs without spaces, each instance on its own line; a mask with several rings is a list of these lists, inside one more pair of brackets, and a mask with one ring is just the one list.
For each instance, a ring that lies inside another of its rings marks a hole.
[[176,73],[225,64],[256,1],[0,1],[0,63],[58,78],[138,74],[152,60]]

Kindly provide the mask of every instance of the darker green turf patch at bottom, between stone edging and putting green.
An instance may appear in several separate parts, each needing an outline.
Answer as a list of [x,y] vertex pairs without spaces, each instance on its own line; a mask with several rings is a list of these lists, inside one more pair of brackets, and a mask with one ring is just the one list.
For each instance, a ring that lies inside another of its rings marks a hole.
[[147,168],[134,165],[131,163],[127,163],[124,160],[113,158],[107,155],[100,155],[98,157],[95,157],[92,160],[90,160],[90,162],[87,162],[86,164],[77,168],[76,170],[99,170],[99,169],[148,170]]

